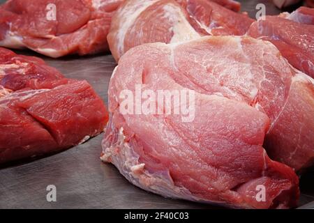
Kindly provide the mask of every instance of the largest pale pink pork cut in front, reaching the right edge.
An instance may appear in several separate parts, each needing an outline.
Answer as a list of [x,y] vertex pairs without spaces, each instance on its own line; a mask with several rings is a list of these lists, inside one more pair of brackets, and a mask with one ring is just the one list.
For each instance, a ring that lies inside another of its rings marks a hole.
[[[142,98],[136,98],[139,86],[147,90]],[[160,90],[193,91],[189,106],[172,98],[170,111],[192,107],[194,118],[166,112],[165,100],[155,101]],[[140,45],[121,57],[112,74],[101,159],[131,183],[165,197],[292,207],[297,175],[262,146],[296,168],[313,162],[313,90],[313,79],[263,40],[208,36]],[[126,106],[126,98],[134,104]],[[141,112],[141,105],[156,108]],[[264,201],[256,199],[258,187],[265,188]]]

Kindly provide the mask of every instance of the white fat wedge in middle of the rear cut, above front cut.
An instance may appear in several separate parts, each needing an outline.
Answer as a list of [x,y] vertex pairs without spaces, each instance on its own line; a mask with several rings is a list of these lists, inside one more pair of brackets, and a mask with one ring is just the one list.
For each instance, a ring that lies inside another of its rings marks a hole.
[[195,29],[186,20],[181,8],[172,4],[167,4],[163,6],[163,10],[165,11],[163,17],[173,23],[170,31],[172,31],[174,35],[172,36],[170,43],[185,42],[195,38],[200,38],[200,34],[197,33],[197,31],[195,31]]

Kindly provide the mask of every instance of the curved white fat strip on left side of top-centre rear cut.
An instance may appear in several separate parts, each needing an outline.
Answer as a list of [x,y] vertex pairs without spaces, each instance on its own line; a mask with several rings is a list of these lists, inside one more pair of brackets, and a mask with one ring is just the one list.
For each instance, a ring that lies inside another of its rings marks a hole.
[[147,1],[147,0],[140,0],[136,1],[129,1],[128,4],[124,6],[121,10],[117,13],[123,15],[120,17],[119,22],[119,30],[117,32],[117,48],[120,55],[124,54],[124,38],[130,26],[132,26],[137,19],[137,17],[149,6],[156,3],[156,1]]

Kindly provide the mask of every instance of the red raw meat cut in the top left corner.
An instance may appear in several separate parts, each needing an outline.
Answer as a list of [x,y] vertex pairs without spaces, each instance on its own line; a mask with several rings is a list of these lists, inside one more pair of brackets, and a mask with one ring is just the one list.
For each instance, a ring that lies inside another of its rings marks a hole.
[[107,33],[123,0],[8,0],[0,6],[0,46],[46,56],[108,50]]

